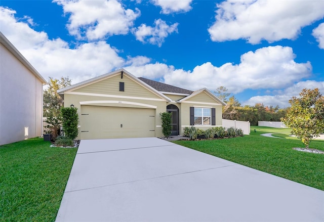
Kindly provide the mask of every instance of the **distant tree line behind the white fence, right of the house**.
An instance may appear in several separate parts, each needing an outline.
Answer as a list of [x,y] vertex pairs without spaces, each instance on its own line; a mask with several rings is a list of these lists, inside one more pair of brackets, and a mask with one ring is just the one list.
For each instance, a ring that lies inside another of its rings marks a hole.
[[241,106],[234,96],[229,97],[230,93],[227,93],[227,88],[224,86],[218,87],[214,93],[227,103],[223,107],[223,119],[249,121],[251,125],[258,125],[258,121],[281,121],[280,118],[284,117],[289,109],[280,109],[279,106],[268,107],[262,103],[256,103],[254,106]]

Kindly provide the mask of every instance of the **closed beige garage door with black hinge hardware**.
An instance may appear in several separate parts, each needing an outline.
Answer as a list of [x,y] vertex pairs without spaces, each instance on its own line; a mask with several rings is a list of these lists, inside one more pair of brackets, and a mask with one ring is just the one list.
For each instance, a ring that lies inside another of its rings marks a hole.
[[155,136],[155,109],[81,106],[80,139]]

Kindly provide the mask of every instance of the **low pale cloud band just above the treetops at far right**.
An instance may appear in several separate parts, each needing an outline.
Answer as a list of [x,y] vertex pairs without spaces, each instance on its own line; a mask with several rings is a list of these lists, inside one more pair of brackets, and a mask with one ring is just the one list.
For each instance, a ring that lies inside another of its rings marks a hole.
[[318,88],[319,92],[324,93],[324,82],[317,82],[313,80],[301,81],[298,82],[284,91],[277,92],[274,96],[255,96],[251,97],[248,101],[242,102],[242,105],[254,106],[256,103],[263,103],[266,106],[276,106],[278,105],[281,108],[289,107],[289,100],[293,97],[299,97],[299,93],[303,88],[309,88],[313,90]]

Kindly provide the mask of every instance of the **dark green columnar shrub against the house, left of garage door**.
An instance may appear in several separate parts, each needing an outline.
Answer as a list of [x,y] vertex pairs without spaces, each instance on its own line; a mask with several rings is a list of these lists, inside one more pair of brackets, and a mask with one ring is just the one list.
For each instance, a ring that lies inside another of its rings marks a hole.
[[67,138],[74,140],[77,137],[77,108],[63,107],[61,108],[61,116],[63,122],[63,131]]

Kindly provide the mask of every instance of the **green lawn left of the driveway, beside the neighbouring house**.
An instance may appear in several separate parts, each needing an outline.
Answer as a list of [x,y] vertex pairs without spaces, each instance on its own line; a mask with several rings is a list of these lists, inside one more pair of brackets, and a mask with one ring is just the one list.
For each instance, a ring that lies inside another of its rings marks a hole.
[[0,148],[0,221],[54,221],[76,148],[29,139]]

